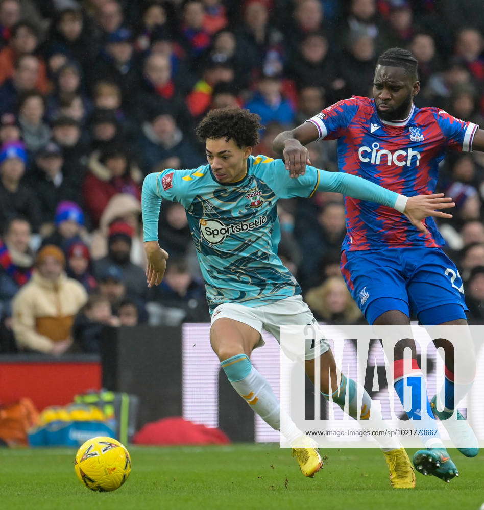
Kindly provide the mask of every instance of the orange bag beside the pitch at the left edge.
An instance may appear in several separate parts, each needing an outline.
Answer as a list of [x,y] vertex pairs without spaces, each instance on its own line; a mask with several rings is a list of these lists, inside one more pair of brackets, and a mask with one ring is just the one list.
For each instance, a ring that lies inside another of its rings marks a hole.
[[30,398],[0,406],[0,440],[8,446],[27,446],[27,431],[39,423],[39,413]]

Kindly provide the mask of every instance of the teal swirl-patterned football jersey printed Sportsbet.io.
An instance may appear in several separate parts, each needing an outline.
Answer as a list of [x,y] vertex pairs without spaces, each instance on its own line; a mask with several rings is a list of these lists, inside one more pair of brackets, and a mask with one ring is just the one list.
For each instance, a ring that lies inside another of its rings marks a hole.
[[[308,166],[304,176],[291,179],[281,160],[250,156],[246,177],[232,184],[217,182],[210,165],[152,175],[151,191],[186,209],[210,311],[225,302],[258,307],[301,292],[277,256],[276,204],[279,198],[312,195],[320,170]],[[143,217],[145,232],[147,220]]]

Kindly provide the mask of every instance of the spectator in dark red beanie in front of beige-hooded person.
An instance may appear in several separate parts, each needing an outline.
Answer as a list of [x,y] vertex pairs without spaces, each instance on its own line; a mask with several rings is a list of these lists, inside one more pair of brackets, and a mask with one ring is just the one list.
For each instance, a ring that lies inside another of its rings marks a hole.
[[123,275],[126,291],[130,296],[146,301],[148,287],[144,271],[130,259],[134,229],[128,223],[115,221],[109,227],[108,254],[94,262],[94,275],[104,274],[111,266],[117,266]]

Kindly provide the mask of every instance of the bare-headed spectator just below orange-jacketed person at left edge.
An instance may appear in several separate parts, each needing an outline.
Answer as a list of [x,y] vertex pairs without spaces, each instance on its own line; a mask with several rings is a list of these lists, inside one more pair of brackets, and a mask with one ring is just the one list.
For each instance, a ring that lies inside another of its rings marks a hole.
[[36,88],[40,61],[33,55],[21,55],[14,64],[12,78],[0,86],[0,114],[14,112],[20,95]]

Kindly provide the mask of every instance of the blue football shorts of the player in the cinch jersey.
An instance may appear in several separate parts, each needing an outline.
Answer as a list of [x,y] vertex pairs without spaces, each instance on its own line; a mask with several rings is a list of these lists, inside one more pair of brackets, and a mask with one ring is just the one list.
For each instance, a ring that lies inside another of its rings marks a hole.
[[389,310],[423,325],[466,319],[461,275],[440,248],[345,250],[341,273],[369,324]]

